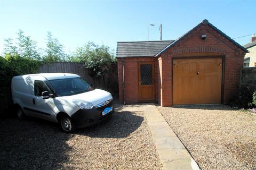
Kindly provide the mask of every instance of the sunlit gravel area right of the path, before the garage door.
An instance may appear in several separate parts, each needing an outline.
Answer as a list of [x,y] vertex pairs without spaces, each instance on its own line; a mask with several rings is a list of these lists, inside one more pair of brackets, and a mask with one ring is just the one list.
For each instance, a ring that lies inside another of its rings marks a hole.
[[256,116],[225,105],[157,107],[202,169],[256,169]]

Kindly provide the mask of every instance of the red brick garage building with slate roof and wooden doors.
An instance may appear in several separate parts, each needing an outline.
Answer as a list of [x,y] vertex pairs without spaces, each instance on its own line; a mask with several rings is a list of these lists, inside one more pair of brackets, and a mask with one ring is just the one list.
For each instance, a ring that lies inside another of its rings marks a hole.
[[226,104],[238,92],[246,52],[207,20],[177,40],[118,42],[119,99]]

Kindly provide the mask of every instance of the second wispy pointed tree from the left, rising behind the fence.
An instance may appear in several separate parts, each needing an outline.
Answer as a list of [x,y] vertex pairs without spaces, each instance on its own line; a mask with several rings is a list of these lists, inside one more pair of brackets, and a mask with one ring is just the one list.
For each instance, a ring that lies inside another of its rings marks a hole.
[[57,38],[53,38],[52,32],[50,31],[47,32],[46,47],[46,56],[44,57],[44,60],[53,62],[67,60],[68,55],[63,51],[63,45],[60,44]]

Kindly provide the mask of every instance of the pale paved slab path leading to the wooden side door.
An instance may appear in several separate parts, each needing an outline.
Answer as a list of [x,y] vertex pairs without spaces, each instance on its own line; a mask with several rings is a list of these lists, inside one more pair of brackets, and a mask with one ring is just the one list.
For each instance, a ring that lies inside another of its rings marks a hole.
[[117,111],[144,112],[153,135],[163,169],[199,169],[195,160],[183,146],[170,125],[154,104],[125,105]]

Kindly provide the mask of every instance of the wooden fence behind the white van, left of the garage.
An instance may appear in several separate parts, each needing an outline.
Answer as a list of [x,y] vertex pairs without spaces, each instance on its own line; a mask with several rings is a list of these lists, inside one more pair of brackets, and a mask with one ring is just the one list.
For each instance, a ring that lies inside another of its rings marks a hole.
[[86,82],[93,84],[95,88],[106,90],[114,94],[118,92],[117,65],[111,65],[110,69],[103,67],[103,75],[92,78],[89,70],[84,68],[83,63],[54,62],[46,63],[40,67],[41,73],[74,73],[80,75]]

